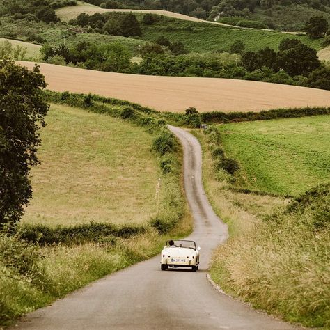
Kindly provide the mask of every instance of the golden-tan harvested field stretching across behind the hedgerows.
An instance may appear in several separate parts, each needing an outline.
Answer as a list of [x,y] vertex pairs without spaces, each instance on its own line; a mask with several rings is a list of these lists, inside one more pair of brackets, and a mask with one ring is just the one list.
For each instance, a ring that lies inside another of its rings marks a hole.
[[[28,68],[34,63],[17,61]],[[330,91],[235,79],[157,77],[40,63],[52,91],[94,93],[159,111],[261,111],[281,107],[330,107]]]

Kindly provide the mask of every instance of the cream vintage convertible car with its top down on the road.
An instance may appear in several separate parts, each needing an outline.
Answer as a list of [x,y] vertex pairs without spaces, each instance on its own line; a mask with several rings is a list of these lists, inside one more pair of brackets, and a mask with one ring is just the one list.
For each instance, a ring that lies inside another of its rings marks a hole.
[[199,250],[194,241],[170,240],[162,250],[161,269],[168,267],[191,267],[193,272],[198,270]]

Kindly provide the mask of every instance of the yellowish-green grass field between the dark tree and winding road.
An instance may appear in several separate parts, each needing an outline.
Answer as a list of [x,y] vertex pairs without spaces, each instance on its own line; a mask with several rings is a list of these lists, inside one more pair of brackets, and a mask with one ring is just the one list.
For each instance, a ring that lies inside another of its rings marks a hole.
[[156,211],[158,180],[151,139],[118,119],[53,105],[23,223],[147,221]]

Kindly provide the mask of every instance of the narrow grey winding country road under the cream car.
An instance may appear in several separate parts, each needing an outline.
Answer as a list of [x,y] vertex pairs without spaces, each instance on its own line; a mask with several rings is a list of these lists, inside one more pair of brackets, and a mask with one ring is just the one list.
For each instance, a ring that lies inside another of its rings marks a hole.
[[184,188],[195,221],[189,238],[201,246],[200,270],[162,272],[157,256],[68,294],[11,329],[294,329],[220,294],[207,281],[210,253],[226,240],[227,226],[207,202],[198,141],[170,129],[184,147]]

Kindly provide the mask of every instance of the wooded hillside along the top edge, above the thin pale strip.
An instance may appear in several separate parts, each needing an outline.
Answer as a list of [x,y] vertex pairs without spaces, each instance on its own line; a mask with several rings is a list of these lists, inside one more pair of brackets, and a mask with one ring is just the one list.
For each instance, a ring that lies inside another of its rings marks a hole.
[[312,16],[330,23],[330,0],[86,0],[103,8],[164,9],[237,26],[303,31]]

